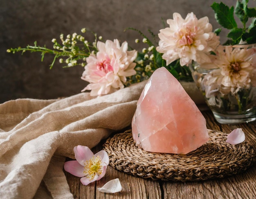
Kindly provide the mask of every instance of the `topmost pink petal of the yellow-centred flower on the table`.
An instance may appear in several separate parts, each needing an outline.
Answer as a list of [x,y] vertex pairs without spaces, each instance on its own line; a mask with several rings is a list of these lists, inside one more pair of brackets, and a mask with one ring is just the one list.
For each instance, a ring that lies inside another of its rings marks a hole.
[[75,158],[79,164],[84,166],[87,160],[90,160],[93,156],[93,152],[87,146],[78,145],[74,147]]

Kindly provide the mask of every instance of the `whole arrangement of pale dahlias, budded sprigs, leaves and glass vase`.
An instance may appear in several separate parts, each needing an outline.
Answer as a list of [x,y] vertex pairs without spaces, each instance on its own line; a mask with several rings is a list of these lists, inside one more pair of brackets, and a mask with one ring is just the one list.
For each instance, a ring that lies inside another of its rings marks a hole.
[[[65,67],[81,65],[85,68],[81,78],[89,82],[82,91],[90,90],[92,96],[109,94],[146,80],[157,68],[166,67],[178,80],[194,79],[220,123],[253,121],[256,119],[256,48],[245,44],[256,43],[256,9],[249,8],[248,1],[238,0],[235,8],[222,2],[211,5],[216,20],[230,30],[224,46],[220,45],[218,36],[221,29],[213,31],[208,17],[198,19],[191,12],[184,19],[174,13],[173,19],[167,20],[169,27],[161,29],[158,35],[148,30],[152,41],[141,31],[128,28],[143,37],[147,47],[141,52],[117,39],[104,41],[93,32],[93,42],[81,34],[66,37],[61,34],[60,40],[52,40],[53,49],[35,42],[34,46],[7,51],[41,52],[42,60],[45,54],[54,54],[50,68],[57,59],[65,63]],[[242,22],[242,28],[238,27],[234,13]],[[247,27],[250,18],[252,21]],[[83,28],[81,32],[88,31]]]

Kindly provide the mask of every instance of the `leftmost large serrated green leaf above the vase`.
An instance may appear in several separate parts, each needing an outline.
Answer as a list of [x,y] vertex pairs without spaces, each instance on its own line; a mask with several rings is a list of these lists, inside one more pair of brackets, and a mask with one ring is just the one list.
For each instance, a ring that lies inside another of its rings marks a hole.
[[234,7],[232,6],[230,9],[224,3],[216,3],[214,2],[211,5],[211,8],[215,12],[215,18],[217,22],[227,28],[233,29],[237,27],[236,21],[234,19]]

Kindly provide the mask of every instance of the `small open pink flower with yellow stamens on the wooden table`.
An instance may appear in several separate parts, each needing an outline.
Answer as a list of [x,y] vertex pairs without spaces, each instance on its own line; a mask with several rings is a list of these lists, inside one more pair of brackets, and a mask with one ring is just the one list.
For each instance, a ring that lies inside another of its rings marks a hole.
[[106,174],[109,158],[106,151],[101,150],[95,155],[87,146],[74,147],[76,160],[64,163],[65,171],[76,177],[81,177],[83,185],[101,179]]

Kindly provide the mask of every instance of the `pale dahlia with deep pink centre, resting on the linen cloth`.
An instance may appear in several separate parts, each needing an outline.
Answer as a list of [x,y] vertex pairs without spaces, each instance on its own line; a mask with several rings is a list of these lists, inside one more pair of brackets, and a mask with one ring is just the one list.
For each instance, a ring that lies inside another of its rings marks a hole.
[[86,58],[87,65],[82,79],[88,81],[83,90],[91,90],[91,96],[100,96],[124,88],[126,77],[136,74],[137,51],[128,51],[128,43],[120,43],[117,39],[97,42],[97,54]]

